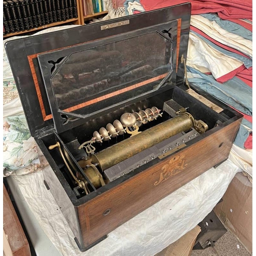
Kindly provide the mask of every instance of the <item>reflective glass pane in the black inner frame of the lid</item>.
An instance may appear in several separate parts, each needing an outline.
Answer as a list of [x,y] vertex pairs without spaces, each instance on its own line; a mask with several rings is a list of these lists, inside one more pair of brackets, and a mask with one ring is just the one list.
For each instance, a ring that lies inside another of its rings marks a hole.
[[[52,90],[58,109],[82,114],[108,108],[129,97],[158,90],[173,71],[173,44],[157,32],[131,37],[58,60],[53,71]],[[49,62],[49,61],[48,61]],[[112,100],[109,100],[112,99]]]

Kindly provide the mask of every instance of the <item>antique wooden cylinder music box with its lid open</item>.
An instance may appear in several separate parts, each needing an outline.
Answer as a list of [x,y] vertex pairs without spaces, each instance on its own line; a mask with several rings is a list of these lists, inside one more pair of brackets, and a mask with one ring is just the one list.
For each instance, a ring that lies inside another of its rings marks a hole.
[[228,157],[242,115],[184,82],[189,25],[186,3],[5,46],[80,250]]

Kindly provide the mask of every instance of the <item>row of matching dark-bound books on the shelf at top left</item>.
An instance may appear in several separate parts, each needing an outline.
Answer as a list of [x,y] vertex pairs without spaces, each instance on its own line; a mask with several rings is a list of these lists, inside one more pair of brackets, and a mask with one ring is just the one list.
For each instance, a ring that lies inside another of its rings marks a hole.
[[5,0],[4,35],[77,18],[76,0]]

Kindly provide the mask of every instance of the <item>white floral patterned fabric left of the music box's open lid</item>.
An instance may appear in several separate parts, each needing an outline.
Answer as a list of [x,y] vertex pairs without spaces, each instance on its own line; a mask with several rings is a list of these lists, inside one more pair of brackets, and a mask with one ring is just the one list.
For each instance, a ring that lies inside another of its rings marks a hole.
[[[39,31],[47,33],[75,27],[61,26]],[[36,35],[35,34],[35,35]],[[22,38],[15,36],[4,40]],[[48,165],[33,137],[31,137],[20,102],[10,64],[3,45],[3,170],[4,177],[11,174],[24,175],[41,170]]]

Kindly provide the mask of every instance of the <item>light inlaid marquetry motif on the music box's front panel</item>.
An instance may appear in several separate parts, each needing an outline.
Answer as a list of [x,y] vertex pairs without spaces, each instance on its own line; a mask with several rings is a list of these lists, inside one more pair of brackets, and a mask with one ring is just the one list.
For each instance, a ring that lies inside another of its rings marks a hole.
[[187,167],[185,163],[185,155],[174,157],[162,167],[162,172],[158,181],[154,183],[155,186],[161,184],[171,176],[175,176],[180,173],[181,170]]

